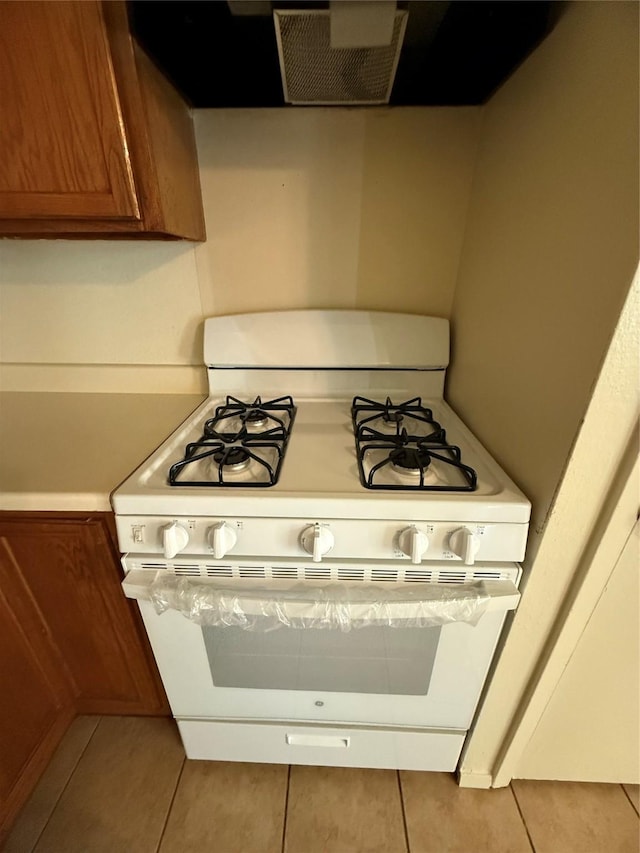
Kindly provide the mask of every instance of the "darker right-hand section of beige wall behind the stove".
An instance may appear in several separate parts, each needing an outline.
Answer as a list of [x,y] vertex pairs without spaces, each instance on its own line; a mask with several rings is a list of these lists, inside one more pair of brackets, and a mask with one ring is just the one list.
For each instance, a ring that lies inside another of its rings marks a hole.
[[365,117],[356,304],[449,317],[481,112]]

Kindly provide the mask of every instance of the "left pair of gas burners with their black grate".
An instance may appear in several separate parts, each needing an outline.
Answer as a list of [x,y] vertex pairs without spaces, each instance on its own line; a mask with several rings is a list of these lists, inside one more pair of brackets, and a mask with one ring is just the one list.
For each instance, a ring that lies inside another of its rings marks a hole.
[[273,486],[278,482],[296,407],[291,397],[244,403],[227,397],[169,469],[170,486]]

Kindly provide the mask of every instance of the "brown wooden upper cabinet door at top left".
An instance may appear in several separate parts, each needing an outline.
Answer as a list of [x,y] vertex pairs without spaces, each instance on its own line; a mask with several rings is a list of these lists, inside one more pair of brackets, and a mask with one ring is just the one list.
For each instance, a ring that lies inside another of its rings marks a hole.
[[0,2],[0,217],[139,219],[101,5]]

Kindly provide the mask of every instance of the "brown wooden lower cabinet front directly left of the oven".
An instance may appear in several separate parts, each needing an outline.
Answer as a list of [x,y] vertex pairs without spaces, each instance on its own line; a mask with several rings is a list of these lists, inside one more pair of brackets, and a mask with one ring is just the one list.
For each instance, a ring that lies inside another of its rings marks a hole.
[[168,714],[139,613],[122,594],[108,516],[42,515],[5,515],[0,535],[60,650],[78,713]]

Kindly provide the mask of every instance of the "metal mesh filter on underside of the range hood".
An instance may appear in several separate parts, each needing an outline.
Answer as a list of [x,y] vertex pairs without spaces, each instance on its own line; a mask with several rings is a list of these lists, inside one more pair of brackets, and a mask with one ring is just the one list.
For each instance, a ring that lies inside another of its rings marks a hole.
[[383,47],[332,48],[328,9],[273,13],[284,98],[290,104],[386,104],[407,13],[396,12]]

